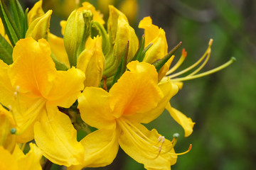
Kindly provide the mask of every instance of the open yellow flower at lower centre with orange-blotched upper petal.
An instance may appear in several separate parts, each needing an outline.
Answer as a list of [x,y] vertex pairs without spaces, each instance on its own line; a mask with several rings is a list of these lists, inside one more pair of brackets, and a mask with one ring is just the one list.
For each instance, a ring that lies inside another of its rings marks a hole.
[[110,164],[119,144],[146,169],[171,169],[177,157],[173,143],[141,123],[157,118],[178,87],[171,81],[158,84],[156,69],[146,62],[130,62],[127,69],[109,93],[87,87],[78,98],[82,120],[99,129],[80,141],[85,147],[82,166]]

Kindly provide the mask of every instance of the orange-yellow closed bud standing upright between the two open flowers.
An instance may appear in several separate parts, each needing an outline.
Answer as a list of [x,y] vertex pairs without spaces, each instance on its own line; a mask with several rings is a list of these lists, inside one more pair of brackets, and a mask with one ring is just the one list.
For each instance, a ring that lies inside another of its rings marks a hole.
[[93,38],[85,46],[85,50],[78,57],[77,67],[85,73],[85,86],[99,86],[105,67],[101,37]]

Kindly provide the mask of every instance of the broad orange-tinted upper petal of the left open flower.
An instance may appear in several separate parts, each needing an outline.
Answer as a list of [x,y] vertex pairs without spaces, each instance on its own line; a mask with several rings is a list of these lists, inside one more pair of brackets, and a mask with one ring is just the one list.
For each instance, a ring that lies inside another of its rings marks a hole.
[[48,42],[43,39],[36,42],[33,38],[19,40],[14,47],[13,59],[14,64],[9,70],[12,85],[19,86],[21,93],[47,96],[56,72]]

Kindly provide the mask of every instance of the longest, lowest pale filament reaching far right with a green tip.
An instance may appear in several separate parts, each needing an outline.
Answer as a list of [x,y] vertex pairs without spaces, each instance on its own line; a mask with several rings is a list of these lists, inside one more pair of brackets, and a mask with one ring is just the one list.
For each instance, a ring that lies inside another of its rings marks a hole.
[[230,64],[232,64],[233,62],[235,62],[236,59],[235,57],[231,57],[231,59],[226,62],[225,64],[219,66],[219,67],[216,67],[215,69],[212,69],[208,72],[203,72],[201,74],[196,74],[196,75],[193,75],[191,77],[183,77],[183,78],[177,78],[177,79],[171,79],[171,81],[187,81],[187,80],[191,80],[191,79],[197,79],[197,78],[200,78],[200,77],[205,77],[209,74],[213,74],[215,72],[218,72],[220,71],[221,69],[224,69],[225,67],[228,67]]

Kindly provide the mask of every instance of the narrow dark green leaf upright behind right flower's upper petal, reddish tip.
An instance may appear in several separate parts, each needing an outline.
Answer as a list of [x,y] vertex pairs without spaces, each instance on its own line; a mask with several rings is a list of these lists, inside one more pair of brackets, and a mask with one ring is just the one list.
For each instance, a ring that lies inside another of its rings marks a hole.
[[117,72],[114,74],[114,79],[112,81],[112,86],[117,82],[117,80],[122,77],[122,74],[127,69],[127,57],[128,57],[128,51],[129,51],[129,41],[127,42],[127,45],[124,47],[124,52],[122,55],[122,59],[119,63],[119,66],[117,67]]

